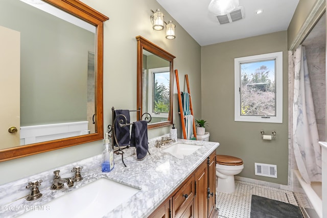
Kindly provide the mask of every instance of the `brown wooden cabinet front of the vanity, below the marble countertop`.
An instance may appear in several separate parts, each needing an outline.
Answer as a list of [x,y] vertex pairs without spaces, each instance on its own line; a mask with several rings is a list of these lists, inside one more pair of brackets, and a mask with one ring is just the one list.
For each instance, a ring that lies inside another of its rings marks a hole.
[[216,151],[149,218],[216,217]]

